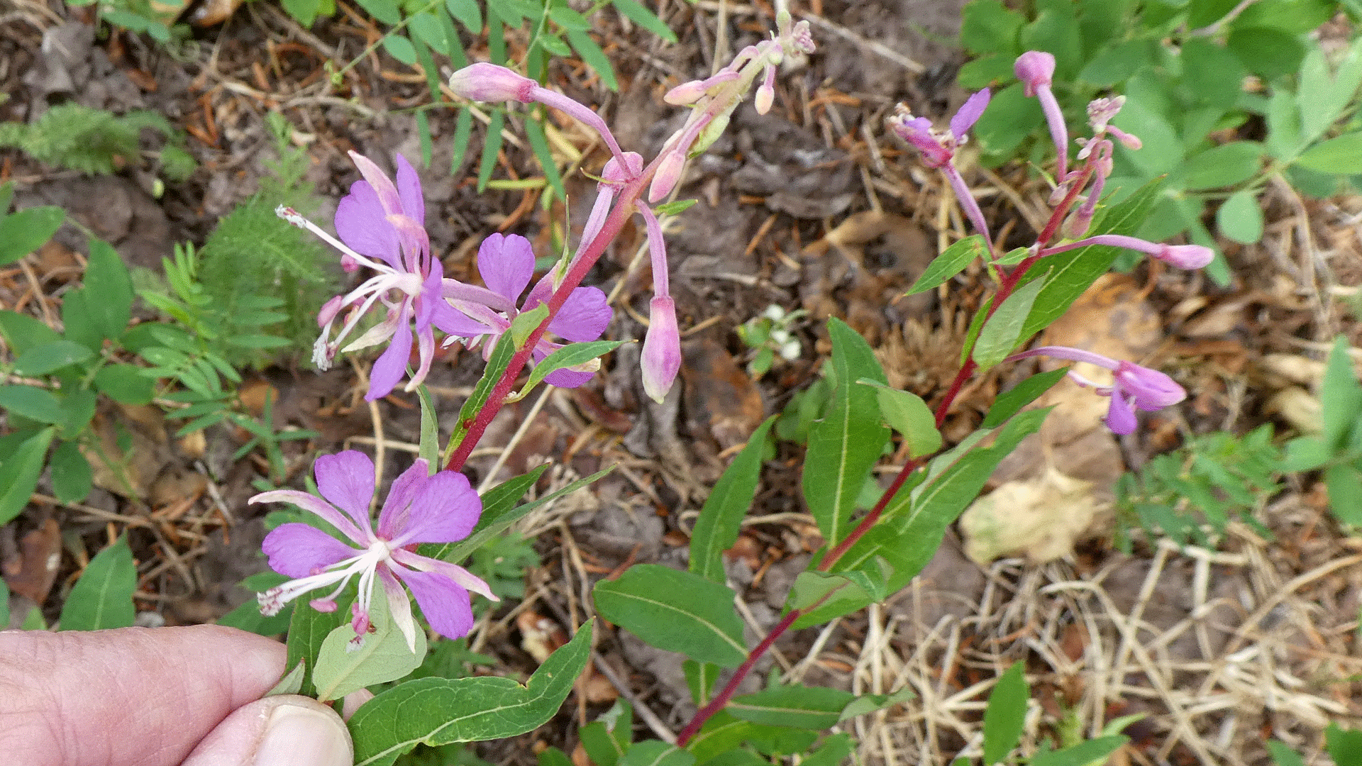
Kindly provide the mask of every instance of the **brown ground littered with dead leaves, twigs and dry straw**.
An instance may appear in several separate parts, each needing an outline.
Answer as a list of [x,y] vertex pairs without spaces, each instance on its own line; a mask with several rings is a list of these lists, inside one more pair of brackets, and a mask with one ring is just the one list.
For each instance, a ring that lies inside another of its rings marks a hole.
[[[700,202],[669,230],[686,363],[673,397],[654,405],[643,395],[637,350],[624,346],[592,383],[537,394],[489,429],[470,463],[475,482],[545,459],[554,465],[539,492],[606,465],[617,470],[527,519],[523,532],[537,538],[541,556],[524,575],[527,596],[489,612],[470,638],[474,652],[497,661],[486,672],[533,671],[556,635],[591,616],[595,581],[635,562],[684,563],[688,530],[734,448],[817,378],[828,352],[825,318],[862,333],[892,384],[932,403],[944,394],[967,318],[986,294],[986,275],[971,273],[949,293],[903,296],[937,248],[963,229],[941,180],[883,125],[900,101],[937,120],[963,101],[952,85],[963,59],[949,42],[960,4],[797,4],[819,50],[782,74],[770,114],[741,109],[685,177],[682,195]],[[127,33],[97,33],[79,8],[0,0],[0,85],[10,97],[0,102],[0,120],[30,121],[63,101],[151,109],[187,132],[200,164],[188,181],[154,196],[140,168],[87,177],[5,151],[0,181],[15,181],[19,207],[61,204],[129,264],[155,270],[174,243],[203,243],[259,188],[275,155],[264,117],[278,112],[291,124],[294,143],[306,147],[308,180],[334,204],[355,179],[347,150],[380,162],[395,151],[419,157],[409,109],[430,98],[422,75],[383,53],[362,56],[332,85],[323,64],[361,56],[381,34],[355,7],[338,5],[335,19],[304,30],[271,3],[248,3],[166,49]],[[682,119],[661,94],[707,75],[771,27],[760,0],[662,0],[659,12],[678,44],[598,15],[595,33],[613,57],[618,93],[568,63],[556,64],[550,76],[553,87],[599,105],[620,143],[644,157]],[[512,52],[524,45],[524,33],[516,35]],[[470,59],[486,57],[485,41],[464,44]],[[421,176],[432,244],[444,254],[447,273],[470,275],[477,244],[496,230],[546,245],[552,221],[534,204],[534,191],[475,191],[484,124],[475,123],[473,150],[449,173],[455,110],[428,114],[434,147]],[[571,124],[557,128],[586,153],[582,166],[598,170],[607,157],[602,147]],[[509,132],[523,136],[513,121]],[[523,142],[511,140],[494,177],[538,174]],[[975,168],[967,179],[981,189],[994,226],[1008,222],[1007,236],[1017,243],[1034,232],[1046,189],[1024,168]],[[575,173],[567,183],[572,199],[590,199],[588,177]],[[971,560],[952,532],[910,587],[825,628],[791,634],[750,681],[779,669],[787,680],[857,692],[911,687],[917,696],[908,703],[847,724],[864,762],[945,765],[977,754],[993,679],[1026,661],[1035,698],[1031,744],[1061,731],[1095,736],[1106,721],[1143,713],[1126,728],[1130,746],[1111,763],[1261,766],[1269,763],[1267,737],[1298,747],[1308,763],[1325,763],[1324,726],[1362,725],[1355,699],[1362,691],[1362,545],[1328,514],[1323,488],[1310,477],[1293,480],[1256,511],[1271,538],[1233,525],[1216,549],[1145,542],[1121,555],[1111,549],[1105,512],[1121,472],[1186,435],[1246,432],[1263,423],[1288,433],[1298,423],[1290,405],[1309,399],[1331,339],[1346,333],[1354,348],[1362,345],[1343,307],[1362,281],[1362,200],[1314,202],[1287,188],[1264,199],[1263,241],[1227,251],[1235,273],[1230,288],[1140,266],[1100,281],[1047,331],[1047,342],[1114,343],[1128,357],[1154,360],[1190,391],[1179,413],[1121,439],[1095,427],[1095,397],[1072,387],[1056,394],[1053,423],[1000,468],[994,484],[1057,472],[1084,482],[1073,514],[1042,519],[1042,541],[1000,551],[1008,556],[989,564]],[[573,214],[583,210],[577,204]],[[330,211],[317,219],[328,221]],[[57,243],[22,269],[0,270],[0,304],[35,316],[60,305],[61,290],[79,279],[84,233],[68,224]],[[647,267],[639,264],[643,244],[642,232],[627,230],[590,278],[614,300],[609,338],[643,335],[650,296]],[[735,327],[771,305],[809,312],[795,324],[802,353],[753,380],[744,368],[750,352]],[[309,470],[313,451],[376,451],[379,462],[388,461],[390,478],[406,465],[418,440],[415,398],[365,405],[368,364],[354,360],[319,375],[301,352],[248,379],[248,403],[272,391],[276,423],[320,432],[305,448],[289,448],[294,482]],[[479,372],[475,353],[451,350],[436,364],[429,384],[445,424]],[[994,372],[971,383],[947,423],[948,442],[972,431],[993,395],[1028,372]],[[245,435],[214,428],[202,440],[176,440],[169,436],[174,425],[151,409],[101,412],[101,423],[128,428],[146,447],[136,462],[143,491],[129,497],[97,488],[84,503],[60,504],[41,484],[29,510],[0,529],[11,589],[53,619],[80,567],[127,532],[146,624],[211,622],[248,598],[236,583],[264,568],[266,511],[245,499],[266,466],[255,454],[230,461]],[[802,447],[779,444],[730,552],[730,579],[745,602],[750,637],[779,619],[794,577],[823,542],[799,500],[801,457]],[[902,459],[885,461],[885,481]],[[39,562],[53,553],[61,564],[46,571]],[[602,668],[590,694],[575,696],[531,735],[479,746],[479,755],[534,763],[542,744],[571,752],[576,724],[618,696],[651,711],[640,718],[639,737],[684,726],[693,706],[680,657],[622,631],[601,635]]]

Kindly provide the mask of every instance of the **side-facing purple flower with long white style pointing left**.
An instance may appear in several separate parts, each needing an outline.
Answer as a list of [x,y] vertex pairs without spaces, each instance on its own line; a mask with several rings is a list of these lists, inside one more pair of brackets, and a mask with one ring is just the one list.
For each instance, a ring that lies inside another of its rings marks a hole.
[[[444,270],[440,259],[430,255],[425,202],[417,172],[399,154],[398,183],[394,184],[368,157],[351,151],[350,159],[360,168],[364,179],[351,184],[350,194],[336,206],[335,229],[339,240],[293,209],[281,207],[276,213],[345,254],[342,263],[347,271],[368,266],[377,273],[347,294],[336,296],[321,307],[317,315],[321,335],[312,348],[312,361],[320,369],[327,369],[336,350],[353,352],[390,341],[369,375],[365,399],[372,402],[388,395],[406,375],[413,334],[419,346],[419,364],[407,390],[415,388],[425,379],[434,358],[433,327],[440,327],[449,312],[447,308],[441,309]],[[385,318],[340,348],[376,303],[387,309]],[[345,324],[332,339],[331,326],[346,308],[350,311]]]

